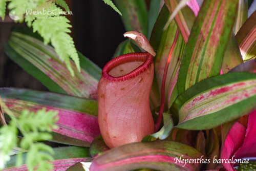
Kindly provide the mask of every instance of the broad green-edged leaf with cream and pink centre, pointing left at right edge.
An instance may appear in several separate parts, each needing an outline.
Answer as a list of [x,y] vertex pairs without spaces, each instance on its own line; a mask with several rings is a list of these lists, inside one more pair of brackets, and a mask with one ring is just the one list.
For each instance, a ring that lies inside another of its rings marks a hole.
[[256,74],[228,73],[189,88],[178,96],[171,112],[179,115],[176,127],[206,130],[249,113],[255,102]]

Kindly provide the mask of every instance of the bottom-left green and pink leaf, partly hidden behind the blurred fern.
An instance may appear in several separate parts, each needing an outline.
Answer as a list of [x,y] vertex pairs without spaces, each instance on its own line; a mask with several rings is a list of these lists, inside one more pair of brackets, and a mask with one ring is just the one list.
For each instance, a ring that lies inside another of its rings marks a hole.
[[[49,161],[53,164],[55,171],[65,171],[70,166],[76,164],[77,162],[90,162],[91,158],[89,156],[88,148],[76,147],[76,146],[67,146],[67,147],[57,147],[53,148],[54,155],[53,161]],[[26,153],[23,156],[23,163],[25,163]],[[3,171],[25,171],[28,170],[26,164],[16,166],[16,155],[11,156],[10,161],[7,163],[6,168]]]

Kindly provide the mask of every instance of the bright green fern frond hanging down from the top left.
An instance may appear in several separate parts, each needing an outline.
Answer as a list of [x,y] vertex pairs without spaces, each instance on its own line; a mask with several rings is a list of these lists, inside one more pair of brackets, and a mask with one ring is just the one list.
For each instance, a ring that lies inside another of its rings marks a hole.
[[[18,10],[22,10],[23,14],[26,14],[25,22],[27,22],[28,27],[32,26],[34,32],[37,31],[44,38],[45,44],[48,44],[54,40],[52,45],[54,46],[59,58],[62,61],[65,61],[72,76],[74,76],[74,71],[71,67],[69,58],[74,60],[76,67],[80,72],[80,63],[74,46],[74,41],[72,37],[67,34],[71,32],[70,29],[68,29],[71,27],[71,25],[68,24],[69,20],[65,16],[60,16],[61,14],[65,14],[65,12],[56,6],[56,4],[58,4],[59,6],[65,8],[67,12],[70,12],[69,7],[64,0],[1,0],[1,3],[2,1],[11,1],[8,5],[9,9],[18,7],[17,9],[14,8],[13,11],[15,13],[16,10],[17,12]],[[1,7],[4,8],[5,6],[0,6],[0,10]],[[19,22],[23,22],[23,20],[24,15],[22,15],[22,17],[19,19]],[[59,22],[59,20],[62,21]],[[40,24],[40,22],[43,24]],[[64,37],[67,39],[63,37],[56,37],[56,33],[64,35]]]

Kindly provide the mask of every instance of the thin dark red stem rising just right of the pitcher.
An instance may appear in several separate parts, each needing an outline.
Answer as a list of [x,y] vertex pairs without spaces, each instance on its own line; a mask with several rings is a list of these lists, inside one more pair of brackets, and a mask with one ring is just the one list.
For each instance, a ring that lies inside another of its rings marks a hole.
[[170,47],[170,52],[169,52],[169,55],[168,55],[168,58],[166,61],[165,68],[164,68],[163,79],[162,79],[162,88],[161,88],[161,105],[160,105],[157,121],[155,124],[155,132],[157,132],[159,130],[159,127],[161,125],[162,118],[163,118],[163,110],[164,110],[164,102],[165,102],[165,93],[164,93],[165,92],[165,81],[166,81],[166,77],[167,77],[167,71],[168,71],[170,59],[172,58],[172,54],[173,54],[175,45],[177,43],[178,35],[179,35],[179,29],[177,29],[177,31],[176,31],[174,42],[173,42],[172,47]]

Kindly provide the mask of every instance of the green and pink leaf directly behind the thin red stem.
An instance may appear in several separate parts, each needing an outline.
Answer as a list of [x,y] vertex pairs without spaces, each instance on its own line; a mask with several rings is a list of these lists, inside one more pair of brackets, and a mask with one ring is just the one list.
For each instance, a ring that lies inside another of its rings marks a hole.
[[[155,57],[155,74],[158,82],[158,87],[161,87],[162,85],[164,68],[169,55],[170,47],[172,47],[173,45],[176,30],[177,30],[177,26],[173,21],[170,23],[168,28],[163,32],[161,36],[162,38],[160,41],[160,45],[158,47],[157,55]],[[168,108],[170,107],[170,105],[172,105],[172,103],[177,97],[177,94],[173,93],[173,91],[175,90],[175,85],[177,83],[181,58],[182,58],[184,49],[185,49],[185,42],[182,39],[182,36],[180,34],[178,37],[176,46],[174,48],[172,58],[170,59],[167,76],[166,76],[166,82],[165,82],[165,98],[167,99],[166,105],[168,106]]]

